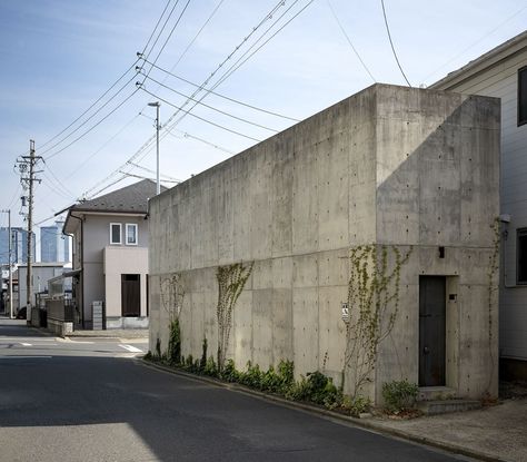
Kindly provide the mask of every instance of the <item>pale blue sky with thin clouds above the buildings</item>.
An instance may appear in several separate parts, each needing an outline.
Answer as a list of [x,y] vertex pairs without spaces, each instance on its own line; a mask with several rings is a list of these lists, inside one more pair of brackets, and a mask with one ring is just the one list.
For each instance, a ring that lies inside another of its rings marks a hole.
[[[527,24],[527,1],[385,0],[385,7],[412,86],[432,83]],[[36,188],[37,223],[120,179],[122,173],[111,174],[138,153],[123,171],[155,177],[148,170],[156,166],[156,109],[147,104],[161,100],[165,125],[177,110],[170,105],[181,107],[196,90],[166,71],[198,86],[213,73],[208,89],[225,75],[216,92],[298,120],[374,81],[406,85],[377,0],[0,0],[0,208],[11,208],[13,226],[23,225],[13,165],[30,139],[46,160]],[[136,62],[143,50],[161,69]],[[142,89],[138,80],[145,80]],[[195,98],[203,96],[209,107],[186,106],[191,115],[180,112],[168,125],[170,132],[161,132],[161,171],[168,179],[185,180],[295,124],[205,91]],[[129,177],[101,194],[136,180]],[[6,225],[7,215],[0,214],[0,226]]]

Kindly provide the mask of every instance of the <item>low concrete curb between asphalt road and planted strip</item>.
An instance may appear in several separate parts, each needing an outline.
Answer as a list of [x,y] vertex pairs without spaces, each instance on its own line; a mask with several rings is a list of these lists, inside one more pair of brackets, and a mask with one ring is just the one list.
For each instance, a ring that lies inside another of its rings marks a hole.
[[436,448],[436,449],[448,451],[448,452],[454,453],[454,454],[465,455],[465,456],[473,458],[473,459],[479,459],[479,460],[486,461],[486,462],[510,462],[507,459],[497,458],[496,455],[488,454],[488,453],[480,452],[480,451],[475,451],[475,450],[471,450],[469,448],[460,446],[458,444],[446,443],[444,441],[435,440],[432,438],[418,436],[418,435],[405,432],[402,430],[391,429],[391,427],[385,426],[381,423],[378,423],[378,422],[375,422],[375,421],[371,421],[371,420],[357,419],[357,417],[352,417],[350,415],[340,414],[338,412],[328,411],[326,409],[321,409],[321,407],[318,407],[318,406],[315,406],[315,405],[311,405],[311,404],[299,403],[299,402],[295,402],[295,401],[288,401],[284,397],[272,395],[272,394],[268,394],[268,393],[264,393],[264,392],[259,392],[259,391],[256,391],[256,390],[251,390],[247,386],[243,386],[243,385],[240,385],[240,384],[237,384],[237,383],[221,382],[221,381],[212,379],[212,377],[191,374],[191,373],[180,371],[180,370],[177,370],[177,368],[172,368],[172,367],[168,367],[168,366],[165,366],[165,365],[161,365],[161,364],[156,364],[156,363],[152,363],[152,362],[147,361],[145,358],[140,358],[140,361],[147,367],[153,367],[153,368],[165,371],[165,372],[168,372],[168,373],[171,373],[171,374],[175,374],[175,375],[180,375],[180,376],[183,376],[186,379],[193,380],[196,382],[205,382],[205,383],[209,383],[211,385],[216,385],[216,386],[219,386],[219,387],[222,387],[222,389],[227,389],[227,390],[231,390],[231,391],[235,391],[235,392],[238,392],[238,393],[243,393],[243,394],[247,394],[247,395],[259,397],[260,400],[270,401],[270,402],[274,402],[274,403],[279,404],[279,405],[285,406],[285,407],[305,411],[305,412],[308,412],[308,413],[311,413],[311,414],[321,415],[321,416],[327,417],[327,419],[335,419],[335,420],[344,421],[346,423],[352,424],[354,426],[359,426],[359,427],[362,427],[365,430],[369,430],[369,431],[375,432],[375,433],[380,433],[380,434],[389,435],[389,436],[396,436],[396,438],[407,440],[407,441],[410,441],[410,442],[414,442],[414,443],[418,443],[418,444],[422,444],[422,445],[427,445],[427,446],[432,446],[432,448]]

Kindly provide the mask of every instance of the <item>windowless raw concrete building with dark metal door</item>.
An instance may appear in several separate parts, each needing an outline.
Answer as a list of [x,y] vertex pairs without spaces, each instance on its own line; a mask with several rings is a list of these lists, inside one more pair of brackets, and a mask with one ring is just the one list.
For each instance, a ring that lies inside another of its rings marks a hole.
[[375,85],[152,198],[150,350],[167,348],[177,281],[183,355],[203,337],[216,351],[217,269],[253,264],[227,357],[291,360],[351,393],[350,250],[365,245],[400,281],[360,393],[379,402],[406,377],[496,395],[499,120],[498,99]]

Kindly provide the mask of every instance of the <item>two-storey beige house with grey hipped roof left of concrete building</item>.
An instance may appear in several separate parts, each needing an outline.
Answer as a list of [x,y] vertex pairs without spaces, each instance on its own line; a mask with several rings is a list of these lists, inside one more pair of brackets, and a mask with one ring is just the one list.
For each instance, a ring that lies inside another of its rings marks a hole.
[[148,200],[145,179],[68,209],[77,328],[148,326]]

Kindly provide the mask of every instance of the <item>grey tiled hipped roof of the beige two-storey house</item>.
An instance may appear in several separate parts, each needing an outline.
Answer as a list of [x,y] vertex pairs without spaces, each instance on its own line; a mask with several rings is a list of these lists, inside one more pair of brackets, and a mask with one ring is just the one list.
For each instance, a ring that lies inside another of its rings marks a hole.
[[[161,193],[166,189],[161,186]],[[153,196],[156,196],[156,183],[143,179],[95,199],[76,204],[70,210],[146,214],[148,212],[148,199]]]

